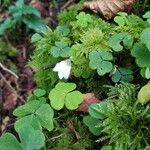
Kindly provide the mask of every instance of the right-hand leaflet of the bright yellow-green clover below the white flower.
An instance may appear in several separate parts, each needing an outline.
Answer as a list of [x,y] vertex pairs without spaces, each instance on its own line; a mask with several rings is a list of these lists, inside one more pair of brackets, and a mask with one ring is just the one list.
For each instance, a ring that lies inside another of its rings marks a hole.
[[77,109],[79,104],[83,101],[83,94],[79,91],[68,93],[65,100],[65,105],[68,109]]

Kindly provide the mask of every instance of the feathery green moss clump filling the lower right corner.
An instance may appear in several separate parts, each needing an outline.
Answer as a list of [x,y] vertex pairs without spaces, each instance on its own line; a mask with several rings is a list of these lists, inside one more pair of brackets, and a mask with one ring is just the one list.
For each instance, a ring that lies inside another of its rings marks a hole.
[[[124,89],[128,89],[128,85],[132,88],[135,87],[132,84],[124,85],[119,87],[124,87]],[[114,89],[115,87],[111,91],[113,92]],[[114,91],[118,91],[118,89],[117,86]],[[129,92],[120,89],[118,95],[116,93],[113,98],[108,98],[105,118],[99,119],[99,122],[95,125],[95,127],[99,127],[99,131],[103,135],[99,140],[107,139],[109,144],[123,147],[124,150],[144,149],[149,145],[149,105],[137,104],[135,91],[136,87]],[[96,105],[102,105],[102,103],[95,104],[93,106],[95,110],[97,109]],[[103,105],[101,107],[103,108]],[[101,111],[98,112],[101,115]],[[95,113],[91,112],[89,117],[96,116]]]

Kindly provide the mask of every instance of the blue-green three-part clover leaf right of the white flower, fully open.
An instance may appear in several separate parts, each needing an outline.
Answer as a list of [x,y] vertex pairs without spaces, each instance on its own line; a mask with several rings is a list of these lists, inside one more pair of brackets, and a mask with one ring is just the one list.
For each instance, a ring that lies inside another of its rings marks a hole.
[[92,51],[89,54],[89,59],[90,68],[97,69],[97,72],[100,76],[111,72],[113,69],[113,65],[110,62],[110,60],[113,59],[113,56],[110,52],[106,50]]

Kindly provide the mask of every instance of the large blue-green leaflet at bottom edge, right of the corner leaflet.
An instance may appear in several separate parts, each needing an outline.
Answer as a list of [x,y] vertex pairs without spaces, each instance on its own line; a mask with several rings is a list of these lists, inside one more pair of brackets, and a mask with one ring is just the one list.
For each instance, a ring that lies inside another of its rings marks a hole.
[[25,125],[20,128],[19,137],[25,150],[40,149],[44,146],[44,134],[40,130],[35,130],[32,126]]

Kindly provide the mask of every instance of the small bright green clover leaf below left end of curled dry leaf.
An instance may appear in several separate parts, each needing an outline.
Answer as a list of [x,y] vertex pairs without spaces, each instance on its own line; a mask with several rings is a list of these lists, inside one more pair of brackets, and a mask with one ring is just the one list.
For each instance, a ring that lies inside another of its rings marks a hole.
[[85,12],[80,12],[77,16],[77,24],[81,27],[87,27],[88,23],[92,22],[92,17]]

